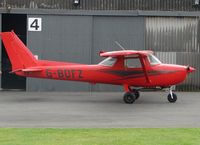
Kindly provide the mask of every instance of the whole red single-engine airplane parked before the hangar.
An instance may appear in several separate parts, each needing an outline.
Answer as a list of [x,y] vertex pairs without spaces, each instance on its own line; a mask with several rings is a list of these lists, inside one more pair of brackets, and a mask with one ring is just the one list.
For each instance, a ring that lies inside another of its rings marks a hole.
[[121,50],[100,52],[106,57],[95,65],[37,60],[23,42],[12,32],[2,32],[2,41],[12,64],[11,73],[19,76],[82,81],[92,84],[122,85],[124,102],[132,104],[144,88],[169,88],[168,101],[176,102],[173,85],[179,84],[194,68],[163,64],[152,51]]

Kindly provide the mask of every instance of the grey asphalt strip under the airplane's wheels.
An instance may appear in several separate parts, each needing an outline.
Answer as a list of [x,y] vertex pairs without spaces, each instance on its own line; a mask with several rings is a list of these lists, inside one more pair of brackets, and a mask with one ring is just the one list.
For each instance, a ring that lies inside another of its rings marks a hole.
[[200,127],[200,93],[142,92],[134,104],[123,93],[0,92],[0,127]]

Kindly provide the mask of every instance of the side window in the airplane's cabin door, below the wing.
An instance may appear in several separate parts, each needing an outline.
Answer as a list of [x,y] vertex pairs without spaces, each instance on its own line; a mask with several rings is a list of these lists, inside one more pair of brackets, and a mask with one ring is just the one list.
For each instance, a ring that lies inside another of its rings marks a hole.
[[125,58],[125,67],[126,68],[141,68],[141,62],[139,58]]

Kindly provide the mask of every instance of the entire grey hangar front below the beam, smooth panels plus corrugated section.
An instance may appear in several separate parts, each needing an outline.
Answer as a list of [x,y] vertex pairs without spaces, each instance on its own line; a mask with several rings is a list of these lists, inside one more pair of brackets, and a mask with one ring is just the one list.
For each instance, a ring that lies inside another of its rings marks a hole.
[[[42,17],[42,32],[28,32],[27,44],[40,59],[97,63],[100,50],[153,49],[166,63],[196,67],[177,90],[200,90],[200,23],[196,17],[114,17],[28,15]],[[145,20],[145,22],[144,22]],[[1,27],[1,26],[0,26]],[[145,43],[144,43],[145,39]],[[144,47],[145,45],[145,47]],[[69,49],[66,49],[69,48]],[[161,52],[162,51],[162,52]],[[176,58],[176,61],[174,60]],[[27,79],[28,91],[119,91],[122,87]]]

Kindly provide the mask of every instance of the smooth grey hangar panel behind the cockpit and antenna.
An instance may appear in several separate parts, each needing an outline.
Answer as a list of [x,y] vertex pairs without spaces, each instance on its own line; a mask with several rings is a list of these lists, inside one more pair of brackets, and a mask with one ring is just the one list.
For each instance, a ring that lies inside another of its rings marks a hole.
[[[144,18],[142,17],[94,17],[92,63],[102,60],[97,56],[100,50],[121,50],[118,41],[126,49],[144,48]],[[95,85],[93,91],[119,91],[122,87]]]

